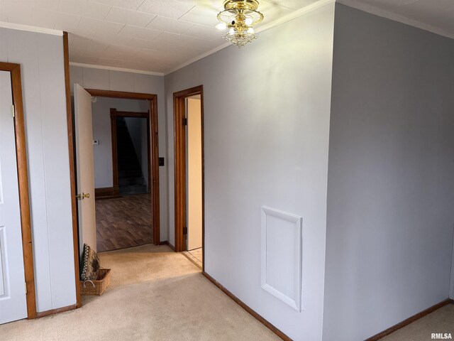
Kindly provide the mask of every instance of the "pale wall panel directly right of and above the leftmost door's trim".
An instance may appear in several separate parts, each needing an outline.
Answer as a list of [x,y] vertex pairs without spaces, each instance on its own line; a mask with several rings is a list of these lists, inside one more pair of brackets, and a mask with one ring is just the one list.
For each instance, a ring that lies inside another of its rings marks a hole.
[[9,63],[21,63],[23,107],[26,128],[28,181],[31,202],[33,262],[35,266],[36,307],[52,309],[48,217],[45,198],[42,112],[37,34],[0,28],[8,43]]

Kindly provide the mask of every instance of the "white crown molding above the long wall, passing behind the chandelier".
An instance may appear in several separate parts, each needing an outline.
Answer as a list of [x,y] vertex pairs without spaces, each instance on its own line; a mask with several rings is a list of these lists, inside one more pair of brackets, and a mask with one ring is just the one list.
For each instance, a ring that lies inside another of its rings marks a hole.
[[[263,32],[263,31],[267,31],[270,28],[282,25],[282,23],[287,23],[287,21],[291,21],[294,18],[298,18],[299,16],[303,16],[304,14],[309,13],[311,11],[314,11],[316,9],[319,9],[320,7],[326,6],[328,4],[333,4],[335,1],[336,0],[321,0],[321,1],[314,2],[314,4],[310,4],[309,6],[303,7],[302,9],[298,9],[297,11],[294,11],[292,13],[287,14],[287,16],[282,16],[282,18],[278,18],[278,19],[276,19],[274,21],[271,21],[270,23],[267,23],[266,25],[262,25],[262,26],[258,27],[257,30],[255,30],[255,31],[257,33],[260,33],[260,32]],[[208,52],[203,53],[203,54],[197,56],[196,58],[193,58],[192,60],[188,60],[187,62],[185,62],[185,63],[183,63],[181,65],[178,65],[177,67],[172,68],[171,70],[165,72],[164,75],[167,76],[167,75],[169,75],[172,72],[175,72],[175,71],[177,71],[179,69],[182,69],[183,67],[185,67],[185,66],[187,66],[189,64],[192,64],[192,63],[196,62],[197,60],[201,60],[202,58],[205,58],[205,57],[207,57],[209,55],[212,55],[213,53],[216,53],[219,50],[222,50],[223,48],[227,48],[230,45],[232,45],[232,44],[231,43],[225,43],[225,44],[223,44],[221,46],[218,46],[217,48],[214,48],[213,50],[209,50]]]

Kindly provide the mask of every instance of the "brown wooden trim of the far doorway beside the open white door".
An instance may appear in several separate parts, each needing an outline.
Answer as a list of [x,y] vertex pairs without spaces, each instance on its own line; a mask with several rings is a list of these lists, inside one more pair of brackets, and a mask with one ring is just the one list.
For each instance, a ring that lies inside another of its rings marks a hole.
[[[159,141],[157,136],[157,95],[141,92],[124,92],[111,90],[85,89],[92,96],[112,97],[123,99],[148,99],[150,102],[150,148],[151,148],[151,205],[153,210],[153,239],[155,245],[160,243],[160,216],[159,216]],[[111,121],[112,122],[112,121]],[[114,134],[112,134],[114,135]],[[116,135],[116,133],[115,133]],[[118,170],[117,170],[118,171]],[[117,174],[118,178],[118,174]],[[117,183],[118,185],[118,183]]]

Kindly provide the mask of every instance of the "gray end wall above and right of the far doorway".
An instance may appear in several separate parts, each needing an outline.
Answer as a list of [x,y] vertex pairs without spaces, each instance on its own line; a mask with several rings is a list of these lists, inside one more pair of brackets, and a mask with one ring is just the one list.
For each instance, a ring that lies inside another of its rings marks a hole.
[[[71,82],[85,89],[143,92],[157,94],[159,156],[166,156],[167,129],[164,101],[164,77],[91,67],[71,66]],[[159,168],[160,239],[167,240],[167,164]]]

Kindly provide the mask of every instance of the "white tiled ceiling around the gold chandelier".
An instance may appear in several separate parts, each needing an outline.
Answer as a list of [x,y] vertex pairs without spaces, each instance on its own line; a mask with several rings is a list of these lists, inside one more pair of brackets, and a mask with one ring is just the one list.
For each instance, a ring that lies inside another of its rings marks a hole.
[[[262,25],[318,1],[259,0],[259,10],[265,15]],[[454,37],[454,0],[339,1],[379,15],[394,13],[397,19],[409,18],[408,23],[417,21],[428,29],[434,28],[431,31]],[[67,31],[70,60],[74,63],[165,73],[226,43],[214,28],[222,3],[223,0],[0,0],[0,21]]]

